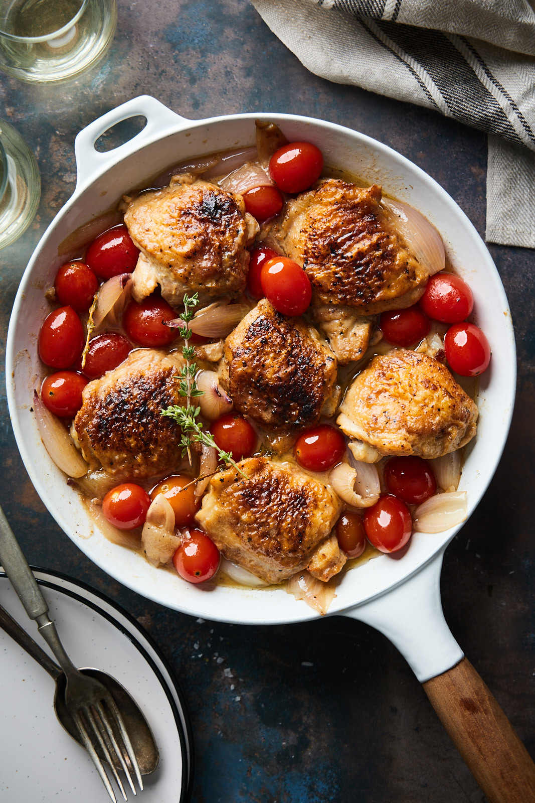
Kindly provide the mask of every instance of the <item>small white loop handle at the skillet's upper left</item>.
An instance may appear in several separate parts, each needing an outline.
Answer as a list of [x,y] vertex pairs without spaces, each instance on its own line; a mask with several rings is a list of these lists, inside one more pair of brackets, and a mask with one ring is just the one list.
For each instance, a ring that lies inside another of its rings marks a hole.
[[[103,133],[111,128],[112,125],[128,120],[129,117],[142,116],[147,119],[147,124],[132,137],[128,142],[124,142],[118,148],[99,153],[95,150],[95,142],[102,137]],[[172,112],[170,108],[161,104],[159,100],[150,95],[141,95],[117,108],[112,108],[110,112],[93,120],[92,123],[83,128],[75,139],[76,171],[77,181],[76,190],[79,192],[83,185],[96,175],[103,173],[110,165],[119,161],[120,157],[127,156],[148,141],[161,137],[167,129],[176,131],[180,128],[180,123],[189,124],[191,121],[181,117],[180,114]]]

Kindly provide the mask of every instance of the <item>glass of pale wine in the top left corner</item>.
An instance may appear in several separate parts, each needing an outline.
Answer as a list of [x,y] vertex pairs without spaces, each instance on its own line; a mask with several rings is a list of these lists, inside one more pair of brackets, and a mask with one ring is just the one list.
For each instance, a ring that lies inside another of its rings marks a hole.
[[0,0],[0,69],[30,84],[76,78],[103,57],[116,0]]

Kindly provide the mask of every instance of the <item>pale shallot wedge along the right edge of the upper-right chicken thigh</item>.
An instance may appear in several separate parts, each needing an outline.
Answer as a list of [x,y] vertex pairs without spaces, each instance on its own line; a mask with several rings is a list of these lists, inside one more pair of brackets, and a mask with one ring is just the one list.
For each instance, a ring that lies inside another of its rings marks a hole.
[[418,262],[428,268],[430,275],[444,271],[444,243],[435,226],[424,215],[401,201],[383,198],[383,205],[391,210],[395,227],[403,236]]

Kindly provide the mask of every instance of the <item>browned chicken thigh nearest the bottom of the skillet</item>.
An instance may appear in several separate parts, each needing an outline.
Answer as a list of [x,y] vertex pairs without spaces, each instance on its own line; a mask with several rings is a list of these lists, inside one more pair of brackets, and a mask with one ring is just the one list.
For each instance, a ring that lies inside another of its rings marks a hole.
[[[329,579],[345,563],[326,546],[341,510],[338,497],[317,479],[265,457],[241,460],[210,480],[197,521],[229,560],[279,583],[306,569]],[[323,577],[320,577],[323,579]]]

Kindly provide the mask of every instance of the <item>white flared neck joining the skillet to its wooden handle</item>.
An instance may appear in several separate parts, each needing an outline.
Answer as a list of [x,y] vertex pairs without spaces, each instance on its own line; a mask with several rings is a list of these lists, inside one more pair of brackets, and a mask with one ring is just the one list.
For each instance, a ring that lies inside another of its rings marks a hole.
[[440,569],[444,549],[401,585],[343,612],[390,639],[420,683],[441,675],[464,657],[442,613]]

